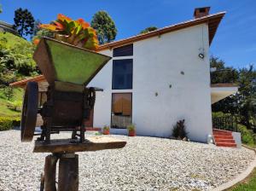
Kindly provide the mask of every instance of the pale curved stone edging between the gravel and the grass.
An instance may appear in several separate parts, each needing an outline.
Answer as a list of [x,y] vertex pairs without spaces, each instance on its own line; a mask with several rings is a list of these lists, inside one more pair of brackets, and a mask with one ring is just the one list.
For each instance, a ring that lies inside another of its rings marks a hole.
[[[249,148],[245,145],[242,145],[242,147],[253,150],[254,153],[256,154],[256,149],[254,148]],[[256,166],[256,155],[255,158],[253,159],[253,162],[247,167],[246,171],[241,172],[237,177],[235,177],[233,180],[230,182],[226,182],[224,184],[221,184],[217,188],[213,188],[212,191],[222,191],[224,189],[230,188],[234,186],[236,183],[241,182],[243,179],[249,176],[249,174],[253,171],[254,167]]]

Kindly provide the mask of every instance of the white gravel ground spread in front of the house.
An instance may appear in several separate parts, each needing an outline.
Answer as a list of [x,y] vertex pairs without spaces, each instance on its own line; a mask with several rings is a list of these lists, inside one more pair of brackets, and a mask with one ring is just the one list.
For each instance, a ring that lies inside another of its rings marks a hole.
[[[63,133],[58,136],[67,137]],[[113,136],[125,148],[79,153],[79,190],[210,190],[247,168],[253,151],[154,137]],[[0,132],[0,190],[39,190],[47,153]]]

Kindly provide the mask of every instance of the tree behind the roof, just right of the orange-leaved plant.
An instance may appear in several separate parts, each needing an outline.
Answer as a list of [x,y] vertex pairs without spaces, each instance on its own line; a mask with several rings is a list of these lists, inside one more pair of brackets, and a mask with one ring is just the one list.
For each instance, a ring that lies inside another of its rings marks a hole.
[[116,37],[116,26],[106,11],[94,14],[90,26],[96,30],[100,44],[110,43]]

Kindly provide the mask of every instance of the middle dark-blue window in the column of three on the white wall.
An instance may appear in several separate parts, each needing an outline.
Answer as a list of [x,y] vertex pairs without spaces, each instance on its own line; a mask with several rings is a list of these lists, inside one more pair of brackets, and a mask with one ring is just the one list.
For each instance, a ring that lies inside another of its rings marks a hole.
[[112,89],[132,89],[132,59],[113,60]]

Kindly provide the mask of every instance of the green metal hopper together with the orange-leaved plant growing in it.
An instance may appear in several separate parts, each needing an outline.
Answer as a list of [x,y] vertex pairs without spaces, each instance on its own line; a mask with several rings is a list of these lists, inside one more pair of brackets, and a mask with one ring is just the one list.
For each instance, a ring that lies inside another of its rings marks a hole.
[[52,33],[51,38],[38,36],[33,40],[38,43],[33,59],[49,84],[71,83],[75,91],[81,91],[111,59],[95,51],[96,31],[83,19],[58,14],[57,20],[39,27]]

